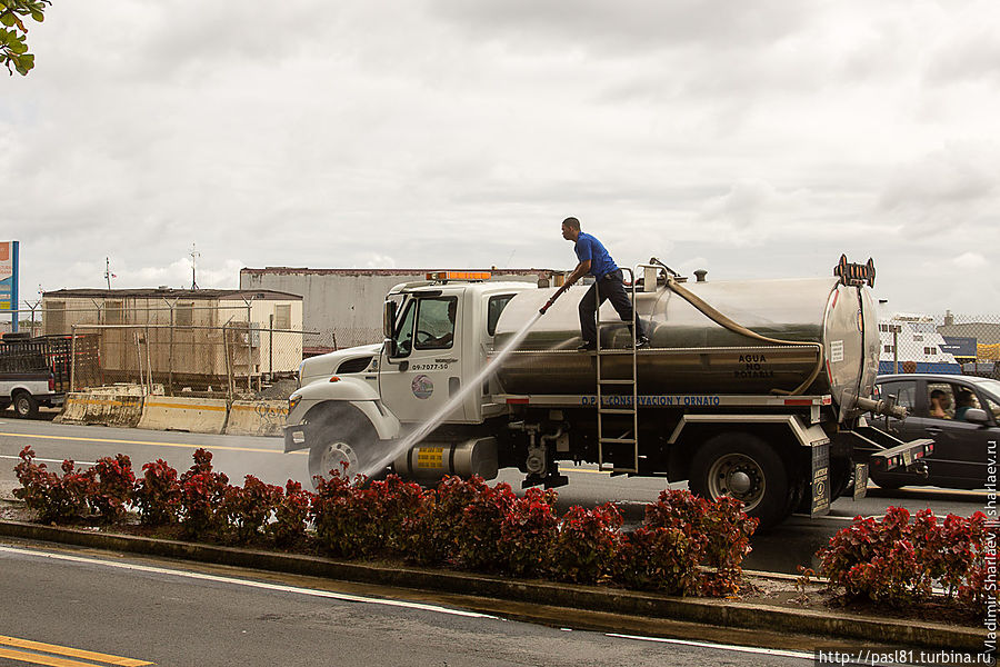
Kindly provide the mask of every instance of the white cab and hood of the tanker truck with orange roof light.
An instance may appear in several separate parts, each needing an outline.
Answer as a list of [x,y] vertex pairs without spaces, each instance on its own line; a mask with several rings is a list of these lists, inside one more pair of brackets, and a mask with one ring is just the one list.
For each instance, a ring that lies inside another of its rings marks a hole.
[[494,379],[439,415],[487,364],[507,303],[538,289],[487,277],[441,272],[398,285],[386,297],[381,345],[303,361],[289,399],[286,451],[308,448],[311,476],[344,464],[371,475],[381,471],[369,468],[392,454],[391,444],[436,416],[446,429],[504,416],[507,405],[492,399]]

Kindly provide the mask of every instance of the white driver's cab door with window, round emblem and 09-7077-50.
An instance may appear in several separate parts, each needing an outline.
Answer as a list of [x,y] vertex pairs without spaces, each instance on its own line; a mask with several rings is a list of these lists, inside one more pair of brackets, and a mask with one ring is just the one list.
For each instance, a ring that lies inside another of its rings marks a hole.
[[[382,402],[400,421],[422,422],[461,389],[462,307],[457,296],[410,298],[393,332],[396,356],[380,365]],[[459,406],[447,421],[464,420]]]

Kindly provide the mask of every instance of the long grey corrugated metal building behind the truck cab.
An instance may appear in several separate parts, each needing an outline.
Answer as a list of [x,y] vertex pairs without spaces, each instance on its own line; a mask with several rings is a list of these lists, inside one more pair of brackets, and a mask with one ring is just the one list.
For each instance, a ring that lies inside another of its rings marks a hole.
[[[267,267],[242,269],[240,288],[273,289],[302,295],[302,323],[319,331],[307,342],[307,354],[352,347],[382,340],[382,302],[386,293],[400,282],[423,280],[440,269],[307,269]],[[459,269],[456,267],[456,270]],[[557,271],[551,269],[468,269],[490,271],[492,280],[549,285]],[[560,272],[561,273],[561,272]]]

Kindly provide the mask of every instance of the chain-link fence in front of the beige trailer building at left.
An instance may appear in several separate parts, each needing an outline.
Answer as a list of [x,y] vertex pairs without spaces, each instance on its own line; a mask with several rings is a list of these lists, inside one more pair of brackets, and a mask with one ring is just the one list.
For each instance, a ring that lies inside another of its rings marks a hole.
[[[291,320],[291,309],[282,303],[164,301],[136,307],[93,300],[92,308],[29,303],[18,311],[17,338],[51,348],[61,390],[128,384],[147,392],[233,398],[293,378],[306,339],[318,336],[302,330],[301,310],[299,321]],[[10,337],[6,334],[4,340]]]

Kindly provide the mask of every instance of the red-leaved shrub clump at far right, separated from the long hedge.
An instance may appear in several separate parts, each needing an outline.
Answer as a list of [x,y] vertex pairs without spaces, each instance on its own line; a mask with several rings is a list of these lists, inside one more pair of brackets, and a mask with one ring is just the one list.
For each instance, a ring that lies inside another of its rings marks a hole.
[[817,551],[820,574],[829,588],[847,598],[866,598],[901,607],[926,601],[932,585],[944,587],[949,599],[986,604],[984,573],[996,558],[986,516],[949,515],[939,521],[929,510],[913,521],[901,507],[890,507],[881,520],[854,519]]

